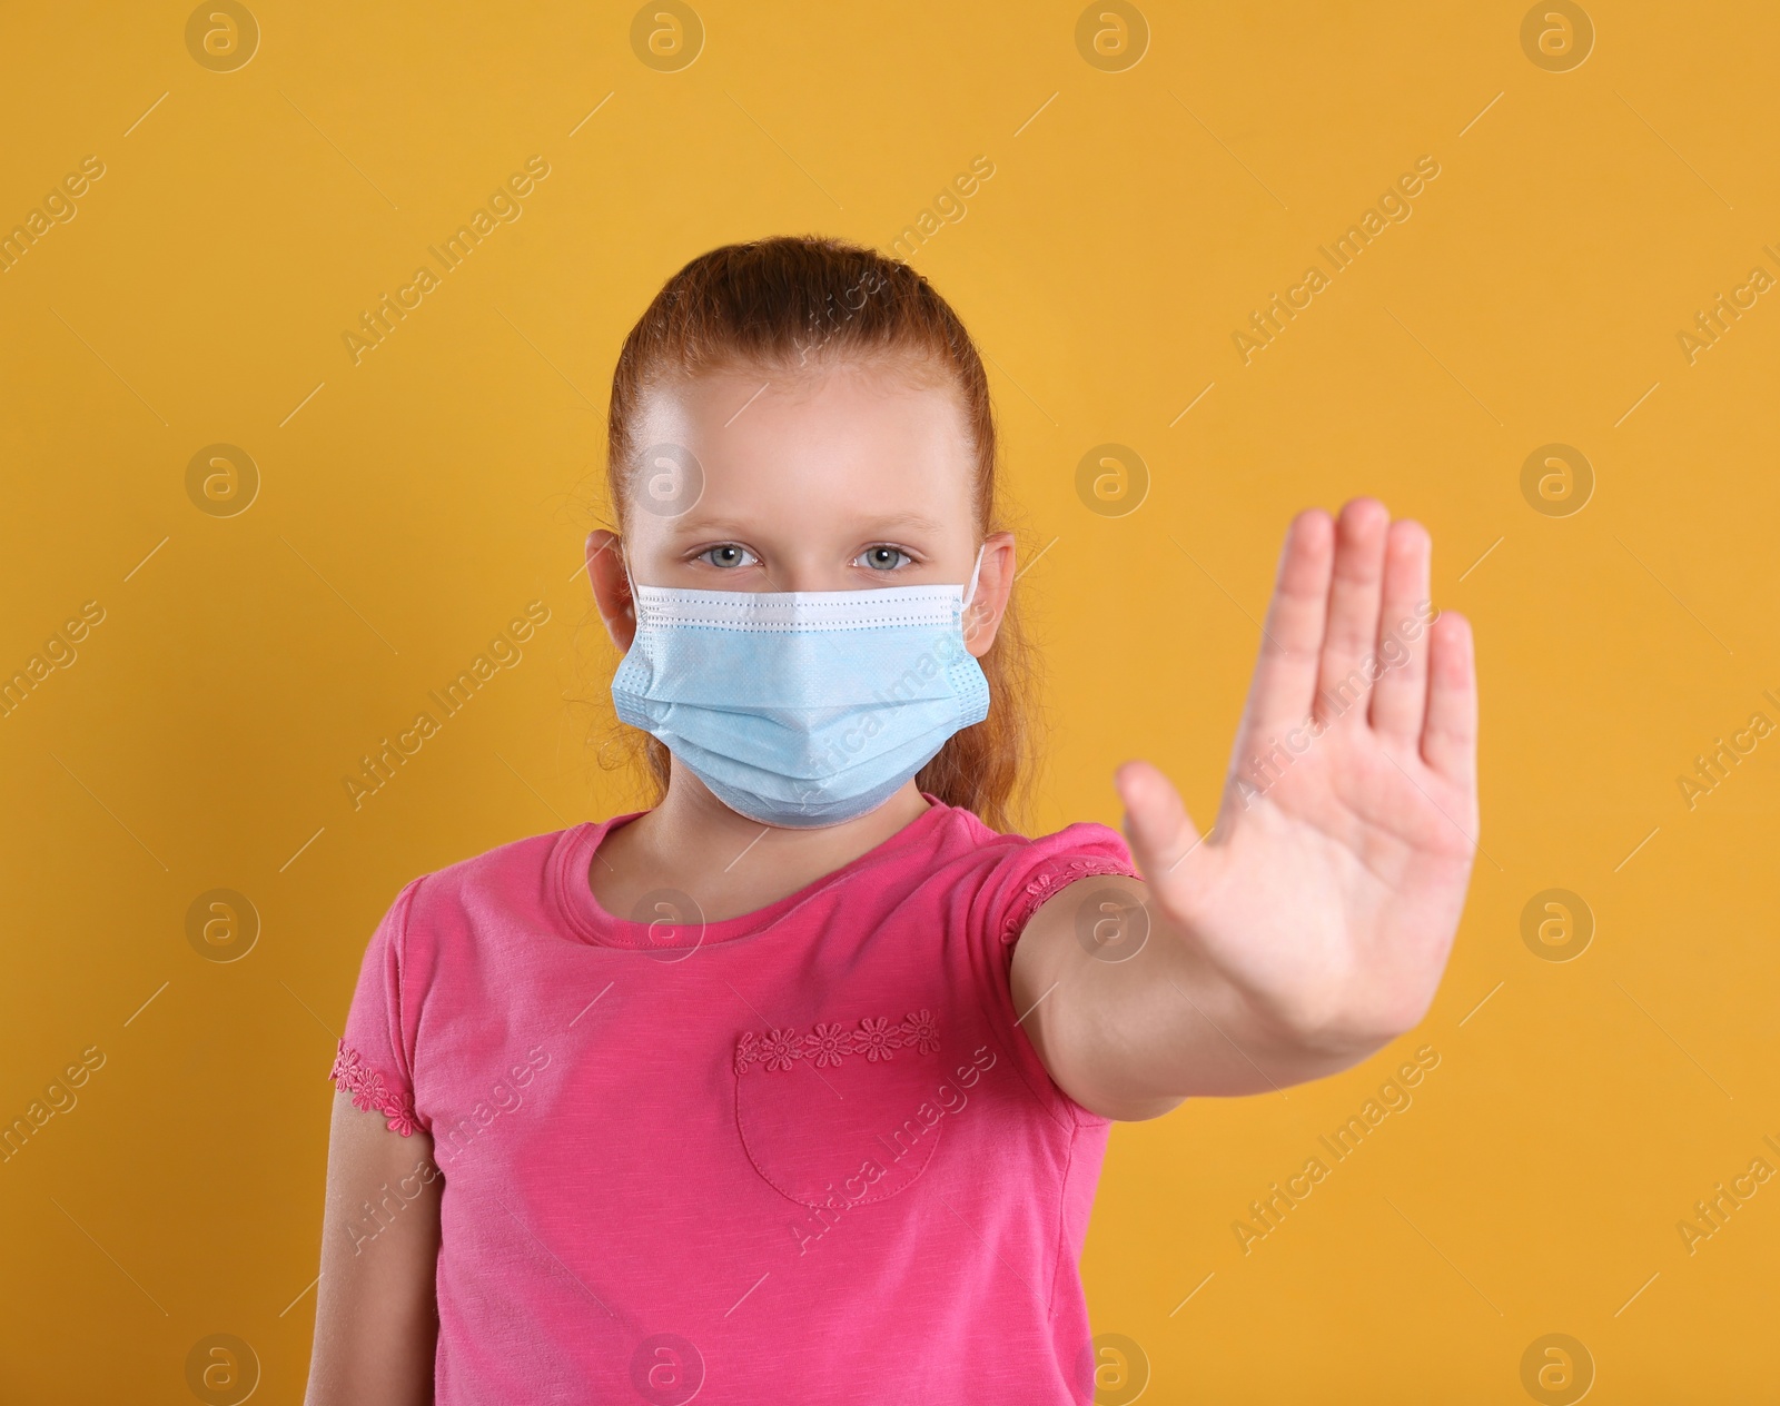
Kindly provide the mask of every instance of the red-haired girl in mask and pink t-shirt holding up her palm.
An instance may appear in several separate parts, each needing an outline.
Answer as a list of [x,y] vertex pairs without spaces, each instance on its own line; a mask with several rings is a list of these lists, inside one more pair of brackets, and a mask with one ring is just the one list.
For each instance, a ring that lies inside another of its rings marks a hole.
[[988,383],[920,274],[714,249],[609,429],[587,566],[659,801],[372,934],[308,1402],[1091,1401],[1111,1121],[1347,1068],[1433,1000],[1477,813],[1428,534],[1294,520],[1210,835],[1130,762],[1130,849],[1029,840]]

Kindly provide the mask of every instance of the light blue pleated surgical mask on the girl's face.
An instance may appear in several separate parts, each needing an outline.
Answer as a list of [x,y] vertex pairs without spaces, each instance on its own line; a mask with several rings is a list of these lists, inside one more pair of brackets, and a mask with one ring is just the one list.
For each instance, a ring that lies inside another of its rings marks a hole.
[[888,801],[990,712],[965,648],[968,586],[682,591],[637,586],[618,715],[730,810],[813,829]]

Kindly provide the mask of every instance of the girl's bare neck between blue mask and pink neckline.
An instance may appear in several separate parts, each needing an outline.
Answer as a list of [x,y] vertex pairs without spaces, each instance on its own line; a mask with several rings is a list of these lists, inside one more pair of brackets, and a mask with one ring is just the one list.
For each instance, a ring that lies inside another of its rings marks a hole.
[[673,762],[662,803],[609,831],[589,881],[619,918],[651,890],[692,899],[685,920],[723,922],[765,908],[876,849],[929,808],[913,781],[878,810],[822,829],[765,826],[737,815],[691,771]]

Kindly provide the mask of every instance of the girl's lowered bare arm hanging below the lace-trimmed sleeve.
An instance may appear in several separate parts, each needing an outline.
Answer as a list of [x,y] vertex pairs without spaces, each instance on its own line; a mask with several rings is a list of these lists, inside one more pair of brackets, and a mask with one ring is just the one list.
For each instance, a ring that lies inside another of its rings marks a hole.
[[431,1137],[335,1095],[304,1406],[433,1401],[441,1191]]

